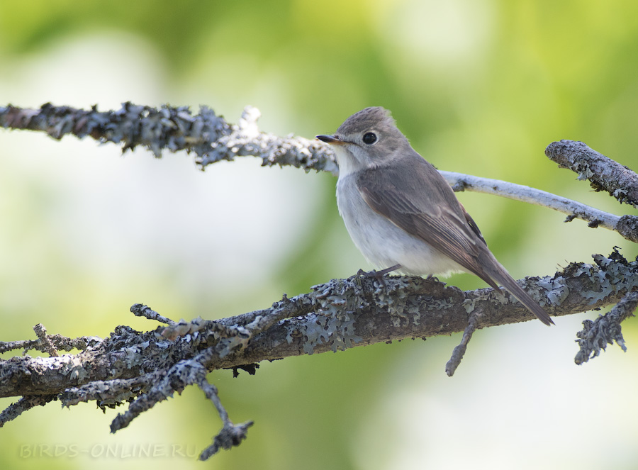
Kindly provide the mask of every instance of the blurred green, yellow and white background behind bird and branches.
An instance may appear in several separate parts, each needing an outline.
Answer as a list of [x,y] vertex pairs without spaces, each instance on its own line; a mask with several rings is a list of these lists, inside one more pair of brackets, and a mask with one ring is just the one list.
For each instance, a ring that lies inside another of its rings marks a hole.
[[[393,111],[440,169],[505,179],[617,214],[544,157],[583,140],[636,169],[634,1],[59,1],[0,4],[0,103],[210,106],[236,122],[312,138],[366,106]],[[367,267],[335,204],[335,178],[255,159],[198,172],[115,145],[0,131],[0,340],[104,337],[116,325],[221,318]],[[461,194],[515,277],[552,274],[634,245],[581,221]],[[449,282],[483,287],[474,276]],[[634,468],[638,334],[576,367],[584,318],[478,332],[456,376],[459,337],[354,348],[209,379],[248,440],[197,462],[220,427],[189,388],[118,432],[120,410],[31,410],[0,431],[2,468]],[[5,355],[5,357],[7,357]],[[4,408],[13,400],[2,399]],[[121,409],[123,410],[123,408]],[[75,446],[75,447],[72,447]],[[140,456],[140,447],[158,449]],[[176,447],[172,447],[176,446]],[[107,454],[106,451],[111,452]],[[132,457],[127,457],[131,455]]]

